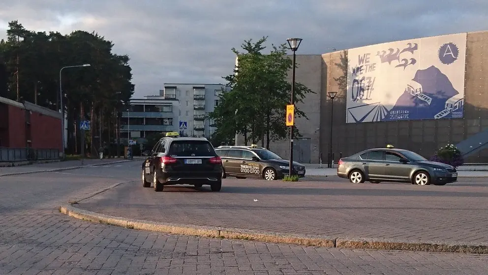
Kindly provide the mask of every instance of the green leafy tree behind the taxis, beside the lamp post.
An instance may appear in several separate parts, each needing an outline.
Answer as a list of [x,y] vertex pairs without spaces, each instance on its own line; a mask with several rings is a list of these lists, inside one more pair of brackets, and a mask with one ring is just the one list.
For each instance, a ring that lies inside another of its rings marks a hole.
[[[287,57],[289,50],[285,43],[272,45],[269,53],[263,54],[268,37],[256,42],[244,40],[243,52],[232,48],[238,57],[234,73],[224,76],[231,88],[219,96],[209,118],[217,130],[212,142],[233,144],[236,134],[244,136],[244,145],[261,143],[269,149],[270,142],[287,138],[289,130],[285,126],[286,105],[291,100],[291,81],[288,73],[293,61]],[[298,68],[298,65],[297,67]],[[295,104],[303,103],[307,94],[314,93],[302,83],[295,83]],[[295,105],[295,118],[308,119],[305,112]],[[301,137],[299,129],[294,130]]]

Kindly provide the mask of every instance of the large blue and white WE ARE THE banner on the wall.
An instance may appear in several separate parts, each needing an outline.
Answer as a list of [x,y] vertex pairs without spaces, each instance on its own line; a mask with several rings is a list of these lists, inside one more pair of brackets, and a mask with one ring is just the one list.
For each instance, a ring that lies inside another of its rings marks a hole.
[[462,118],[466,35],[350,49],[346,123]]

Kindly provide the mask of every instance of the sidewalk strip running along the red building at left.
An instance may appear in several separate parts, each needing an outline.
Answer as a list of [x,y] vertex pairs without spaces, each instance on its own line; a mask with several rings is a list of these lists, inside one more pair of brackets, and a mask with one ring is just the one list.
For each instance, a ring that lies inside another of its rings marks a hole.
[[[139,158],[134,157],[133,161],[137,161]],[[27,174],[35,172],[55,172],[63,170],[78,169],[90,166],[100,166],[111,163],[122,163],[129,162],[131,160],[126,160],[123,158],[115,159],[85,159],[83,164],[81,160],[72,161],[62,161],[62,162],[52,162],[52,163],[42,163],[42,164],[32,164],[24,166],[14,166],[14,167],[0,167],[0,176],[6,175],[16,175],[16,174]]]

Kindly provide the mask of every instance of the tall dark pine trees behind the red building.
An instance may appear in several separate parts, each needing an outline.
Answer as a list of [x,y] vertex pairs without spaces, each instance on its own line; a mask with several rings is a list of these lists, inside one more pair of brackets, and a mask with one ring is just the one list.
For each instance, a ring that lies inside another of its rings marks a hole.
[[[134,92],[129,57],[113,53],[113,46],[95,32],[35,32],[11,21],[7,39],[0,41],[0,96],[62,108],[67,154],[81,151],[79,121],[90,120],[86,140],[94,154],[99,145],[115,140],[119,111]],[[83,64],[91,67],[62,70],[60,95],[61,68]]]

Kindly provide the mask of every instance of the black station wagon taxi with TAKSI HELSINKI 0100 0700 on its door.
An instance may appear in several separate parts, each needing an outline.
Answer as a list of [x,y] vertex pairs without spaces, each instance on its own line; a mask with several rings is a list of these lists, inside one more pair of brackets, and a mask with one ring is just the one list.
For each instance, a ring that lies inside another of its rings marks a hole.
[[[275,180],[288,175],[290,170],[289,160],[254,144],[251,146],[219,146],[215,148],[215,152],[222,158],[222,178],[234,176]],[[293,162],[292,175],[304,177],[305,166]]]

